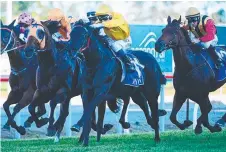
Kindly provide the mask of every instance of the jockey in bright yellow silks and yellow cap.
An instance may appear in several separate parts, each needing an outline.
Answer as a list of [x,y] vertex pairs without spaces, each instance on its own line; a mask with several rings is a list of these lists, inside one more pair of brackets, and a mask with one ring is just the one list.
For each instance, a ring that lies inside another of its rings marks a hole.
[[94,14],[97,18],[89,18],[88,16],[89,20],[91,19],[92,21],[90,27],[99,29],[99,36],[103,38],[103,41],[132,70],[130,59],[125,52],[131,46],[132,40],[129,25],[124,17],[119,13],[113,12],[112,8],[106,4],[100,5],[96,13],[93,12],[90,16]]

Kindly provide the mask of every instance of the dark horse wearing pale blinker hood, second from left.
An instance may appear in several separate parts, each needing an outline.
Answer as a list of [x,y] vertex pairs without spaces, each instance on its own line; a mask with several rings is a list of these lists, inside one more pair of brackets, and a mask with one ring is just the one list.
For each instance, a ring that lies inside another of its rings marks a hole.
[[38,68],[36,71],[36,86],[34,97],[28,106],[29,112],[36,126],[41,127],[48,123],[46,119],[38,119],[35,108],[40,104],[49,102],[56,96],[61,101],[60,116],[54,123],[58,132],[63,129],[63,124],[69,113],[70,91],[72,89],[72,78],[74,64],[67,51],[57,51],[55,43],[45,26],[44,22],[32,24],[27,28],[27,43],[25,52],[32,50],[37,52]]

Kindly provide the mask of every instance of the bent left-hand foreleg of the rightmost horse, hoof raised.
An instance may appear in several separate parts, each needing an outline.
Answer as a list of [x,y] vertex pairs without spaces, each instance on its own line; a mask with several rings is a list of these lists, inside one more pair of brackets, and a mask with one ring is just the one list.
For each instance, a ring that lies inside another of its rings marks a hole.
[[177,121],[177,113],[181,109],[183,103],[185,102],[186,97],[179,94],[177,91],[175,92],[174,99],[173,99],[173,109],[170,115],[170,120],[173,124],[175,124],[181,130],[184,130],[187,126],[186,124],[181,124]]

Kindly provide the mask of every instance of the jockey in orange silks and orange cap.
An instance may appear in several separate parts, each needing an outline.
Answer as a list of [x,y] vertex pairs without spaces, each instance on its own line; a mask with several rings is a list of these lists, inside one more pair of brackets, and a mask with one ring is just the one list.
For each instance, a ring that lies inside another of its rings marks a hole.
[[64,15],[64,13],[59,8],[54,8],[48,12],[48,20],[59,21],[61,27],[58,29],[58,32],[61,34],[61,37],[54,37],[53,39],[57,42],[67,42],[70,40],[71,25],[70,20]]

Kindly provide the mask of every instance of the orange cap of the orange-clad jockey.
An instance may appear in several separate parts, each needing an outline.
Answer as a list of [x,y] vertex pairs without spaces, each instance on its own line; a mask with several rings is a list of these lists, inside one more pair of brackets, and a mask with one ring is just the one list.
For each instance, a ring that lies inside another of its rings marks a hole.
[[60,21],[62,19],[65,19],[65,16],[59,8],[54,8],[48,12],[48,20]]

